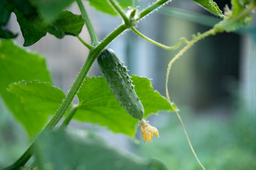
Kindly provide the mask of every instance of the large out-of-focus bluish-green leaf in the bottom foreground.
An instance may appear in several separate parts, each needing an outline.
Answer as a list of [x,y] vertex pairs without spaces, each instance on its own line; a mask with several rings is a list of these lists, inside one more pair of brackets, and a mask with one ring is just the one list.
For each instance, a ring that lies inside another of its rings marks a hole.
[[124,154],[110,147],[92,132],[45,132],[36,141],[38,168],[47,169],[124,169],[164,170],[161,162]]

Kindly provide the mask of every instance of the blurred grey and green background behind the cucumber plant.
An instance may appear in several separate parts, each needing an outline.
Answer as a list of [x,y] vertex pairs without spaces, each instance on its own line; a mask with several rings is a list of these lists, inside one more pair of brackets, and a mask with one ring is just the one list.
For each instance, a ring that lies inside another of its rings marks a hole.
[[[147,0],[137,1],[144,8]],[[229,1],[216,1],[221,9]],[[87,12],[102,40],[121,22],[87,5]],[[230,4],[229,4],[230,6]],[[69,8],[79,14],[78,6]],[[153,40],[174,45],[178,39],[191,39],[193,33],[208,30],[218,18],[189,0],[170,2],[159,11],[138,23],[138,30]],[[169,91],[171,101],[181,110],[196,153],[206,169],[256,169],[256,28],[255,21],[237,33],[221,33],[193,45],[171,68]],[[9,28],[19,32],[11,16]],[[90,40],[84,28],[81,37]],[[168,62],[178,50],[163,50],[138,35],[127,31],[110,47],[127,65],[129,74],[152,79],[154,89],[165,96],[165,77]],[[68,92],[88,50],[73,36],[58,40],[46,35],[28,49],[46,57],[55,86]],[[97,63],[90,76],[100,75]],[[1,102],[1,101],[0,101]],[[76,102],[76,101],[74,101]],[[0,103],[0,167],[14,162],[30,140],[23,127]],[[97,125],[73,122],[71,126],[100,133],[111,145],[141,157],[164,162],[169,169],[200,169],[175,113],[159,113],[149,118],[159,128],[160,137],[154,142],[142,142],[140,132],[135,139],[114,134]],[[139,130],[139,129],[138,129]]]

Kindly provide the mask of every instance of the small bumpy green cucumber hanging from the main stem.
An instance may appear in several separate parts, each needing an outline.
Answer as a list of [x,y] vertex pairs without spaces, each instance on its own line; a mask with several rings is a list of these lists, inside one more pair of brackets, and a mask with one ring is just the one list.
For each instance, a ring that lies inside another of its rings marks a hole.
[[97,62],[100,72],[102,72],[103,77],[105,77],[107,84],[120,105],[133,118],[141,120],[144,115],[144,108],[134,91],[134,85],[132,85],[132,80],[124,63],[119,60],[110,48],[102,50],[97,57]]

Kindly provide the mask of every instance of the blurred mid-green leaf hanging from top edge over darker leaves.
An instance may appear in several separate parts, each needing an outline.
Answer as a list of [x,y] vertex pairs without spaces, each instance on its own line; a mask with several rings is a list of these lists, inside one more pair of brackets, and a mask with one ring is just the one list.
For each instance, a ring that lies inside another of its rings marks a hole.
[[44,23],[52,23],[64,8],[70,6],[75,0],[29,0],[38,8]]

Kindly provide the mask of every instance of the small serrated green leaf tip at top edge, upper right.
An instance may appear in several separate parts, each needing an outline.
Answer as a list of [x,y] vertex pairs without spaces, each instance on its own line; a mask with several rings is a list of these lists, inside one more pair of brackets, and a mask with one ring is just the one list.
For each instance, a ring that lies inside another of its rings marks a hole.
[[218,5],[213,0],[192,0],[195,1],[197,4],[206,8],[206,10],[215,13],[215,15],[223,18],[223,12],[220,10]]

